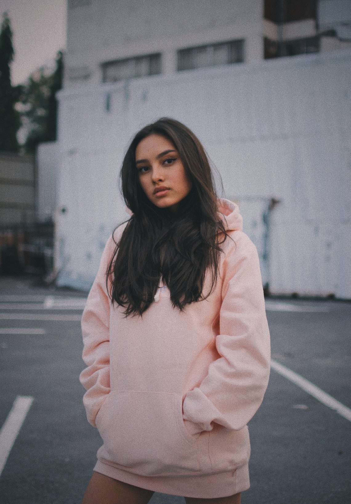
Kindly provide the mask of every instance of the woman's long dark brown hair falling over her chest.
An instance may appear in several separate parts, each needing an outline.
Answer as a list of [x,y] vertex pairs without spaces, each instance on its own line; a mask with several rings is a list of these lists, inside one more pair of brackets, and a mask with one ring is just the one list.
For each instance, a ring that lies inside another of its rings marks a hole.
[[[135,149],[151,134],[162,135],[173,143],[192,181],[190,193],[175,213],[151,203],[137,177]],[[161,275],[173,306],[180,310],[208,297],[217,282],[220,245],[227,233],[218,215],[213,174],[199,140],[181,122],[163,117],[135,135],[125,154],[120,178],[124,201],[132,216],[116,243],[107,270],[112,303],[123,306],[125,316],[142,315],[154,300]],[[208,270],[212,283],[205,294],[202,289]]]

